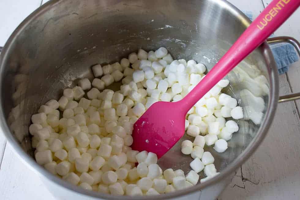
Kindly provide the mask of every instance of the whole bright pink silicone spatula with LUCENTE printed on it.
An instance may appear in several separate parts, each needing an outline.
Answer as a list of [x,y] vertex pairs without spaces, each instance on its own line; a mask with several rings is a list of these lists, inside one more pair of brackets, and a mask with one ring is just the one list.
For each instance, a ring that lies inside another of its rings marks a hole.
[[183,136],[186,113],[239,62],[264,42],[300,6],[300,0],[274,0],[252,22],[200,83],[178,102],[156,102],[133,125],[132,149],[160,158]]

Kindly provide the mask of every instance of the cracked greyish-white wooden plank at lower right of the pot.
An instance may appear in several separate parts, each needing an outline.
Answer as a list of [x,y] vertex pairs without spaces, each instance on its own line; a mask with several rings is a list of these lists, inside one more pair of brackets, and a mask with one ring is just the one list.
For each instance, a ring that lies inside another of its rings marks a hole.
[[[291,92],[285,74],[279,89],[281,95]],[[267,137],[218,200],[299,199],[299,132],[294,102],[279,104]]]

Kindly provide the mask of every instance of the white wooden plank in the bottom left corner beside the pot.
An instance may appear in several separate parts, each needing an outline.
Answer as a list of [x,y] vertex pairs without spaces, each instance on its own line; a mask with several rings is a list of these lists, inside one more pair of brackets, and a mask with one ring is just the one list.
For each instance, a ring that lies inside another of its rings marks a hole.
[[55,199],[39,176],[22,163],[9,143],[6,145],[0,177],[0,199]]

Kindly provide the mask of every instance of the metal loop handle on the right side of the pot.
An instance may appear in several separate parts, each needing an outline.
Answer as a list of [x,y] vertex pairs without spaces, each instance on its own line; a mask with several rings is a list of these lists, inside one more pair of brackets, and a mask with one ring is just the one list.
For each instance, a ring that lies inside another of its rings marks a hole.
[[[300,43],[292,38],[287,36],[281,36],[281,37],[272,37],[267,39],[268,44],[276,44],[276,43],[290,43],[292,44],[295,49],[297,50],[299,56],[300,56]],[[292,93],[284,96],[279,96],[278,102],[286,102],[286,101],[292,101],[300,98],[300,92],[298,93]]]

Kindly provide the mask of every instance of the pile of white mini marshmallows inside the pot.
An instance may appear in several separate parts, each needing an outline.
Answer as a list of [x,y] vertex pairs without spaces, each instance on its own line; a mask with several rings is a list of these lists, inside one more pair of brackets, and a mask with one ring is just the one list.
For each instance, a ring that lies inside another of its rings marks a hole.
[[[196,185],[202,170],[207,177],[201,182],[218,174],[204,145],[225,151],[226,141],[238,131],[237,123],[225,118],[243,117],[237,101],[220,94],[228,80],[220,81],[188,112],[186,133],[195,140],[182,142],[182,153],[194,159],[185,175],[181,169],[163,172],[156,154],[132,150],[131,134],[133,124],[153,103],[178,101],[191,91],[205,76],[205,66],[194,60],[173,60],[160,47],[155,52],[140,49],[120,63],[96,65],[92,70],[96,77],[92,83],[80,80],[78,86],[65,89],[58,101],[48,101],[32,115],[29,132],[38,164],[84,189],[131,196]],[[120,80],[119,91],[104,89]]]

